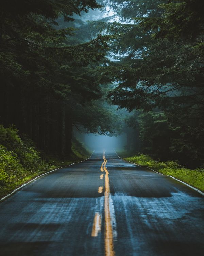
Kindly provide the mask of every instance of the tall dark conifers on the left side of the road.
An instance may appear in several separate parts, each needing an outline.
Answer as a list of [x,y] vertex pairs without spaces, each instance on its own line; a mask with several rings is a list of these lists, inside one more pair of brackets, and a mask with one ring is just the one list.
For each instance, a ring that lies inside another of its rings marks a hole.
[[87,105],[102,95],[94,70],[106,61],[109,39],[99,34],[79,41],[68,25],[95,8],[93,0],[0,3],[1,123],[15,124],[62,158],[71,153],[74,125],[98,132],[96,119],[85,119],[96,114]]

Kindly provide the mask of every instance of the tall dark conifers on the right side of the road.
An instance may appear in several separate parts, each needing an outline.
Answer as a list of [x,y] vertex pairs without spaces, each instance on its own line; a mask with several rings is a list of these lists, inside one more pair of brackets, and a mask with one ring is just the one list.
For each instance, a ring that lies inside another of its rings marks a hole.
[[117,54],[112,71],[118,86],[109,98],[133,111],[128,123],[139,130],[140,151],[190,167],[202,165],[204,2],[137,0],[111,5],[120,13],[120,23],[103,25],[117,37],[111,47]]

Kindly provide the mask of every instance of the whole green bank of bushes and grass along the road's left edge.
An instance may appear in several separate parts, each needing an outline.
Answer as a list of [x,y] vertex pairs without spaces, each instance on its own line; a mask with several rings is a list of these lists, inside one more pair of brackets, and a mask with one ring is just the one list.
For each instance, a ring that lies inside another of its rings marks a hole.
[[19,136],[15,126],[4,128],[0,125],[0,198],[34,177],[88,156],[89,152],[76,139],[68,159],[41,153],[25,134]]

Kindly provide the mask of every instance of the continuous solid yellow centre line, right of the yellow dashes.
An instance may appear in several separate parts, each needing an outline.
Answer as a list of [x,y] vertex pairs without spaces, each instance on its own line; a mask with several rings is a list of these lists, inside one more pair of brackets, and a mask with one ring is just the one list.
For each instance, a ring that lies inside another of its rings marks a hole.
[[[105,158],[105,152],[104,152]],[[105,199],[104,199],[104,211],[105,211],[105,256],[114,256],[114,245],[113,245],[113,232],[111,225],[111,213],[109,208],[109,195],[111,194],[108,170],[106,168],[107,160],[105,158],[104,171],[105,171]]]

